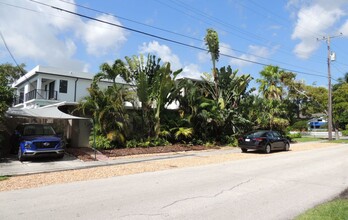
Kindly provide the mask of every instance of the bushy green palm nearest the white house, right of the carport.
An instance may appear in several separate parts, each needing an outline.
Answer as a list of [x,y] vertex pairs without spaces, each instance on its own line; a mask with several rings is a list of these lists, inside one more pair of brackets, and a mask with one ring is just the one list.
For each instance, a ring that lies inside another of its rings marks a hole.
[[[116,84],[116,77],[124,76],[124,68],[119,61],[114,64],[101,65],[102,71],[95,75],[88,88],[89,96],[80,101],[77,110],[92,117],[96,135],[112,137],[113,141],[123,144],[128,124],[124,103],[131,100],[131,95],[127,88]],[[102,79],[111,79],[113,85],[100,89],[98,84]]]

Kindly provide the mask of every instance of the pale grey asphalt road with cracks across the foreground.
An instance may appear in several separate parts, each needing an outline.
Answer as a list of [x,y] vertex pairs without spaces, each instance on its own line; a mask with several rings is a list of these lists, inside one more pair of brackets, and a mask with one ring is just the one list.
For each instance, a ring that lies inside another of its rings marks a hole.
[[0,219],[292,219],[348,187],[348,145],[0,193]]

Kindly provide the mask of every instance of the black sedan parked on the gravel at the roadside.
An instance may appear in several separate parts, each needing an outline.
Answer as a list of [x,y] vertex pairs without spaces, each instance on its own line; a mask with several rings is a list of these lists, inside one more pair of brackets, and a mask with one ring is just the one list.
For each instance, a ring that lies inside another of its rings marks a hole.
[[238,145],[244,153],[252,149],[262,150],[268,154],[273,150],[288,151],[290,148],[290,140],[277,131],[252,131],[239,138]]

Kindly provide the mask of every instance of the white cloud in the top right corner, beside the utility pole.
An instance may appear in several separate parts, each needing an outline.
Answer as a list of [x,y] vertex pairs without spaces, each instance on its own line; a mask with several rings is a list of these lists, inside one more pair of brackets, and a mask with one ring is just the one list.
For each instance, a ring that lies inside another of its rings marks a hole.
[[311,56],[318,49],[317,37],[327,35],[334,25],[344,16],[343,5],[346,0],[314,0],[310,3],[304,0],[290,0],[288,6],[296,7],[296,24],[292,33],[292,39],[299,39],[294,53],[303,59]]

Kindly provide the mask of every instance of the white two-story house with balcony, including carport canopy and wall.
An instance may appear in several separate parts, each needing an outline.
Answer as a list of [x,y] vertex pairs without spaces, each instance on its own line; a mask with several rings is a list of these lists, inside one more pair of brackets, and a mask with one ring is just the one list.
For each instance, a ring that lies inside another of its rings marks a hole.
[[[94,74],[64,69],[36,66],[12,85],[16,89],[15,102],[7,112],[16,119],[50,122],[63,127],[64,135],[76,147],[87,147],[91,128],[90,120],[66,114],[61,109],[71,108],[89,93]],[[126,84],[117,79],[119,84]],[[101,81],[100,88],[112,85],[111,81]]]

